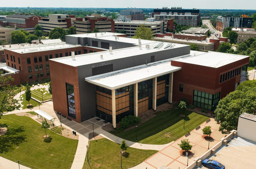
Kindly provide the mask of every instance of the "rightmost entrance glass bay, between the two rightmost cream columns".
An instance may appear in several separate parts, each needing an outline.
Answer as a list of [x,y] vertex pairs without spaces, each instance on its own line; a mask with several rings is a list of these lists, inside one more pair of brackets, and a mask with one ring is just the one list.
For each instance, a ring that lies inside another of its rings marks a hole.
[[168,102],[169,74],[157,77],[157,106]]

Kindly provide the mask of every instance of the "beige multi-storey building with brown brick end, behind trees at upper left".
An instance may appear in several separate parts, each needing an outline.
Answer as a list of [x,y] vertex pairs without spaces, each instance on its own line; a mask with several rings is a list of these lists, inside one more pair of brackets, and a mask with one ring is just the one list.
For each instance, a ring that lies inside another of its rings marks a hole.
[[75,15],[49,14],[48,17],[42,17],[42,20],[38,21],[38,24],[44,32],[50,32],[50,30],[56,27],[68,29],[74,26],[74,20],[76,20]]

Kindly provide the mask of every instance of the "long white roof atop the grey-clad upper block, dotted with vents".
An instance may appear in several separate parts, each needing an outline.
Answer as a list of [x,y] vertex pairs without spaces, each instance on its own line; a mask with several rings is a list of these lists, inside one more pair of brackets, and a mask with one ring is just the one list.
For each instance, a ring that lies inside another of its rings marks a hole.
[[[126,38],[129,40],[130,38]],[[87,65],[92,63],[99,63],[99,62],[106,62],[108,60],[114,60],[114,59],[120,59],[120,58],[126,58],[131,56],[137,56],[140,54],[146,54],[146,53],[152,53],[152,52],[159,52],[163,50],[168,50],[172,48],[179,48],[188,46],[185,44],[172,44],[171,47],[168,47],[164,49],[168,44],[168,42],[157,42],[153,41],[154,43],[150,44],[150,49],[146,49],[145,45],[142,45],[142,48],[139,47],[130,47],[130,48],[122,48],[122,49],[116,49],[113,50],[112,54],[109,53],[109,51],[103,51],[103,52],[95,52],[95,53],[87,53],[87,54],[81,54],[76,55],[75,59],[72,60],[71,57],[62,57],[62,58],[54,58],[51,60],[54,60],[55,62],[71,65],[74,67],[81,66],[81,65]],[[162,43],[162,45],[158,48],[154,48],[159,43]],[[103,58],[100,56],[103,55]]]

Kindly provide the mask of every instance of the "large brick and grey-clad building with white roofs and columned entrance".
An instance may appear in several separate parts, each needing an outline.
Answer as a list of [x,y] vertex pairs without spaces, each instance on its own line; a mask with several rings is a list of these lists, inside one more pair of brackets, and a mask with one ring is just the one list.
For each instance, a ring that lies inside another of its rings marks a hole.
[[124,116],[157,111],[157,106],[181,98],[214,110],[245,81],[249,63],[249,56],[101,33],[68,35],[66,41],[109,50],[50,59],[54,110],[77,122],[97,116],[114,128]]

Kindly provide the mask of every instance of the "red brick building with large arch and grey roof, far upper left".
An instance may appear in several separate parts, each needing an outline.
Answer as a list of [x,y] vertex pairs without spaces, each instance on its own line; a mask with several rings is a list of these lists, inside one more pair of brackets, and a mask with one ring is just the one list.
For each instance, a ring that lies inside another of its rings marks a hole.
[[41,16],[36,16],[34,14],[12,14],[5,17],[5,21],[12,28],[34,28],[38,21],[41,20]]

